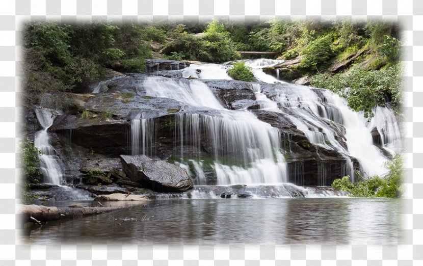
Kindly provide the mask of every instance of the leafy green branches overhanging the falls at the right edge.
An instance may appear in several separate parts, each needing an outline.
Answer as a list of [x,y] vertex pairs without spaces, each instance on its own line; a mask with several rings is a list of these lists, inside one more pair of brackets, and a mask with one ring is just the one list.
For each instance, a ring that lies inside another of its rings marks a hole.
[[[365,117],[372,117],[372,109],[392,102],[394,108],[402,103],[402,69],[396,64],[388,69],[365,71],[353,68],[349,75],[318,74],[312,77],[311,85],[332,90],[346,97],[348,106],[355,111],[363,111]],[[346,89],[349,88],[349,89]]]

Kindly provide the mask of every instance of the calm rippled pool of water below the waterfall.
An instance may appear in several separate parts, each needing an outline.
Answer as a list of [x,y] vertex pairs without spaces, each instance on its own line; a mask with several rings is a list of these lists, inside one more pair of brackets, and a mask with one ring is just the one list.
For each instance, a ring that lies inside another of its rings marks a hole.
[[400,208],[398,199],[154,200],[49,222],[21,238],[31,244],[398,244]]

